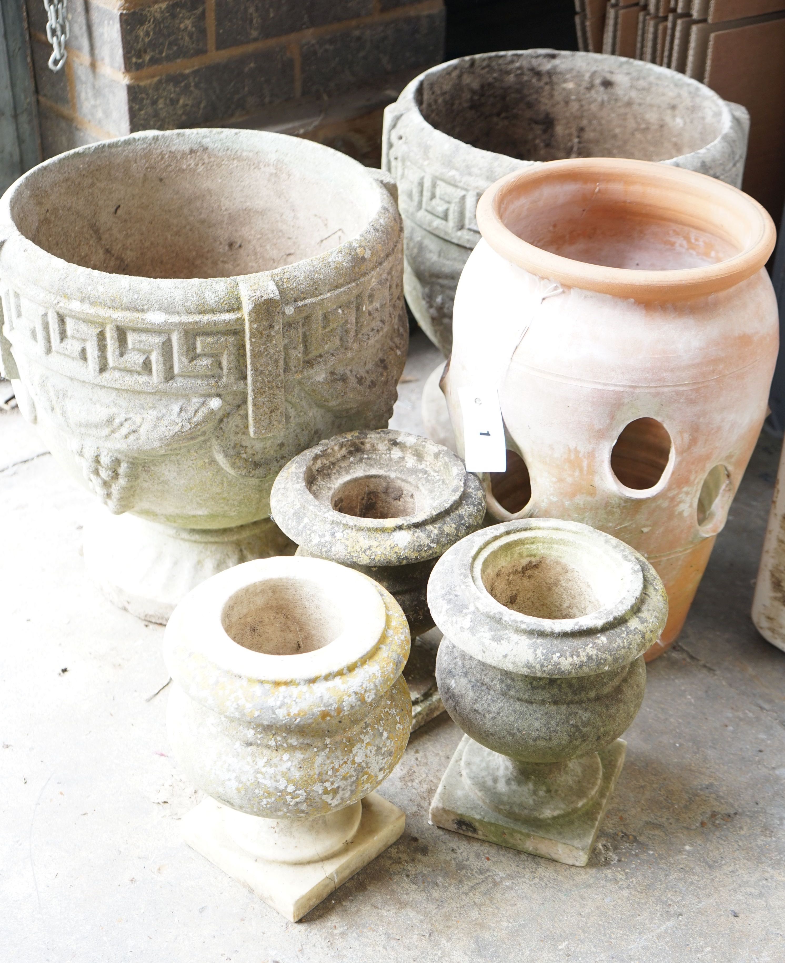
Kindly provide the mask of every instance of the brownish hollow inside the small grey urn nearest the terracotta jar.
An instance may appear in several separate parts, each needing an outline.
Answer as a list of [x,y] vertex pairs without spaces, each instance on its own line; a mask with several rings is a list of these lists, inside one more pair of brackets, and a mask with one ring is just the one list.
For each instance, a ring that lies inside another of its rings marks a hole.
[[561,559],[510,561],[483,581],[497,602],[533,618],[579,618],[600,608],[589,582]]

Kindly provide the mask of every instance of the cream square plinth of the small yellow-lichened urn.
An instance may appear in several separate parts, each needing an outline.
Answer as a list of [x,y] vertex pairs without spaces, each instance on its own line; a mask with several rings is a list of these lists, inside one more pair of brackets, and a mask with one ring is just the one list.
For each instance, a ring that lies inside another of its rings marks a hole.
[[223,810],[215,799],[204,799],[182,820],[183,839],[293,923],[392,846],[406,826],[398,806],[372,793],[362,800],[354,839],[337,856],[292,865],[259,859],[238,846],[224,827]]

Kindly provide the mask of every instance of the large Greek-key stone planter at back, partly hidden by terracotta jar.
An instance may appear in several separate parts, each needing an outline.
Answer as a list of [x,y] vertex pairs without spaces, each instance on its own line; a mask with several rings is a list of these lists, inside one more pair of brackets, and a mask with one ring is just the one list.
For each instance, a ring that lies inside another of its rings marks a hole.
[[458,277],[480,240],[477,202],[505,174],[566,157],[631,157],[741,187],[748,130],[744,107],[623,57],[512,50],[426,70],[386,109],[382,138],[417,322],[450,353]]

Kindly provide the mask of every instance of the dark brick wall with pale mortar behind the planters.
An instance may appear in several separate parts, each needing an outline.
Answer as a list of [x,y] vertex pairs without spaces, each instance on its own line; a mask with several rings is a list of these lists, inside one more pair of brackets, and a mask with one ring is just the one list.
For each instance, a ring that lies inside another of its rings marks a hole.
[[392,99],[443,54],[442,0],[68,0],[53,73],[43,4],[26,3],[44,157],[147,128],[264,126],[385,85]]

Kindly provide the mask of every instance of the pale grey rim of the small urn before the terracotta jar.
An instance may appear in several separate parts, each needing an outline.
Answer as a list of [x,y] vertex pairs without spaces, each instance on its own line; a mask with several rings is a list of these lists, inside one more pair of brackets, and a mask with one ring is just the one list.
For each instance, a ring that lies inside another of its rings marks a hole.
[[[555,569],[548,574],[546,568],[539,581],[542,561]],[[529,598],[514,596],[513,604],[533,602],[541,610],[543,593],[552,596],[559,581],[567,608],[585,611],[569,618],[516,611],[488,588],[510,595],[507,572],[515,586],[527,572],[530,578]],[[548,678],[629,664],[656,641],[667,619],[667,595],[648,561],[613,535],[556,518],[503,522],[465,537],[433,567],[428,604],[445,638],[468,655]]]

